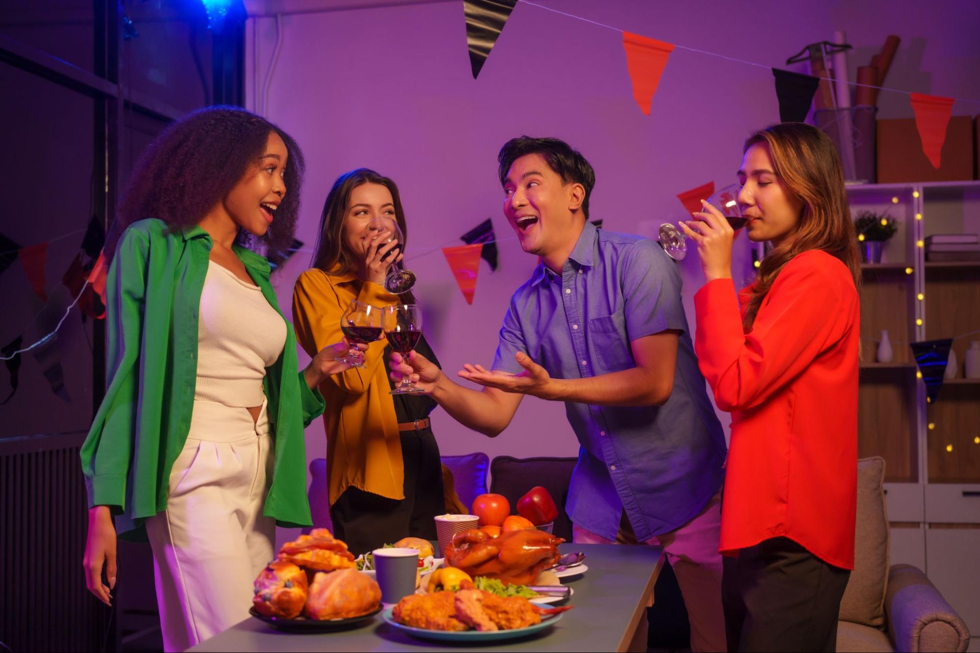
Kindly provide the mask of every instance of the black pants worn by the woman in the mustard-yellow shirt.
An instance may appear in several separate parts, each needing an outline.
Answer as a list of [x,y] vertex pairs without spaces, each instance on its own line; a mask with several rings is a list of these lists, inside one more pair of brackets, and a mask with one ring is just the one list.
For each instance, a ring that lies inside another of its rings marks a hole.
[[390,499],[348,488],[330,508],[333,534],[347,542],[354,555],[402,537],[435,539],[436,515],[446,512],[442,462],[431,429],[402,432],[405,498]]

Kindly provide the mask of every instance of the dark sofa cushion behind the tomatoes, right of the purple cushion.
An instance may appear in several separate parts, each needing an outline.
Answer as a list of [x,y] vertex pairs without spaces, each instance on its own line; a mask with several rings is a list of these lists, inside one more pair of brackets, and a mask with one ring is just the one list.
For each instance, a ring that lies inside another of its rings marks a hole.
[[558,518],[552,533],[571,541],[571,521],[564,512],[565,501],[568,500],[568,485],[571,473],[575,469],[577,458],[514,458],[512,456],[497,456],[490,465],[492,480],[490,491],[503,494],[511,502],[511,512],[517,512],[517,501],[527,493],[527,490],[541,486],[548,490],[555,505],[558,506]]

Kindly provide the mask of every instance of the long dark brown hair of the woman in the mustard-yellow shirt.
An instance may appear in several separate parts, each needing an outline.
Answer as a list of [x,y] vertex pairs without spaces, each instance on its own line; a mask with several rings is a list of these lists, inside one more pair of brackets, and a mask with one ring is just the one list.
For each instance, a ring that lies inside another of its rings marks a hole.
[[[398,221],[398,226],[402,228],[402,235],[408,241],[409,230],[405,226],[405,210],[402,209],[398,186],[394,181],[374,170],[359,167],[337,177],[333,182],[333,188],[326,196],[323,212],[319,216],[317,250],[313,256],[314,267],[336,275],[349,274],[357,269],[355,261],[358,255],[344,246],[344,217],[347,214],[347,203],[351,200],[351,192],[363,184],[379,184],[391,192],[395,219]],[[404,246],[405,243],[402,245]]]

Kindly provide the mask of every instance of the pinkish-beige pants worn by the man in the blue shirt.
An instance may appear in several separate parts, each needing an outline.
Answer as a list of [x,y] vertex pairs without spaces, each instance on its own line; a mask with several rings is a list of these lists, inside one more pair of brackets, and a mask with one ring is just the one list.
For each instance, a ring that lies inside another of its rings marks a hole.
[[[697,517],[676,531],[654,536],[645,543],[663,547],[663,553],[677,576],[691,622],[691,650],[724,651],[725,617],[721,609],[721,554],[718,537],[721,529],[720,492]],[[629,522],[622,519],[616,541],[572,526],[572,538],[582,544],[636,544]],[[644,616],[645,617],[645,616]],[[640,620],[634,641],[646,650],[647,620]]]

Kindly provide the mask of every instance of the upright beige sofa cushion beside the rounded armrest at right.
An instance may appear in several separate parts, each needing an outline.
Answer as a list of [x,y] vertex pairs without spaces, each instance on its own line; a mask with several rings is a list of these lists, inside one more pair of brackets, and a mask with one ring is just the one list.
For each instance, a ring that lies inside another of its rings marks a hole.
[[855,570],[851,572],[840,612],[842,621],[876,629],[885,626],[885,587],[889,567],[884,479],[884,458],[874,456],[858,460]]

